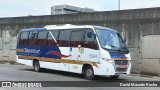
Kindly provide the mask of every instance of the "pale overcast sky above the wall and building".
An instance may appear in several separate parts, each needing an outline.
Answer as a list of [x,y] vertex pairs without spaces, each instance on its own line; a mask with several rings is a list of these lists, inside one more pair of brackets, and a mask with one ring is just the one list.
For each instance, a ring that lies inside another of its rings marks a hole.
[[[121,10],[160,7],[160,0],[120,0]],[[97,11],[118,10],[118,0],[0,0],[0,17],[50,15],[54,5],[88,7]]]

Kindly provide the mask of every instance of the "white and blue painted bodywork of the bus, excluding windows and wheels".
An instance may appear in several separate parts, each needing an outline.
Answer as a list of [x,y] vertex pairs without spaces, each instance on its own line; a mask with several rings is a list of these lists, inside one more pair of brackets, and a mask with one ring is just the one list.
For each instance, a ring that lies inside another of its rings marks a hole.
[[[22,32],[42,31],[42,30],[64,30],[64,29],[84,29],[91,28],[94,33],[94,26],[67,26],[53,27],[46,26],[41,29],[25,29]],[[116,31],[114,31],[116,32]],[[20,36],[19,36],[20,38]],[[30,39],[29,39],[30,40]],[[54,40],[56,38],[54,37]],[[25,65],[33,66],[33,60],[39,60],[40,67],[54,69],[60,71],[82,73],[83,65],[91,65],[95,75],[116,75],[130,74],[131,63],[130,53],[121,54],[103,49],[100,46],[98,37],[98,49],[86,48],[81,45],[77,47],[61,47],[58,44],[55,46],[21,46],[17,45],[17,62]],[[56,41],[57,42],[57,41]],[[30,43],[30,42],[28,42]],[[117,71],[121,64],[127,61],[127,70]],[[118,64],[117,64],[118,63]]]

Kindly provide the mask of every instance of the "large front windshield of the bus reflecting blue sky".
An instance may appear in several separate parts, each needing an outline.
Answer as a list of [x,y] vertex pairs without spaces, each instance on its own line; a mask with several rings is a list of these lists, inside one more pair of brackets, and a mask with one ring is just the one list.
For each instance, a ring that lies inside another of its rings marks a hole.
[[107,28],[96,28],[96,33],[102,48],[128,53],[128,49],[119,33]]

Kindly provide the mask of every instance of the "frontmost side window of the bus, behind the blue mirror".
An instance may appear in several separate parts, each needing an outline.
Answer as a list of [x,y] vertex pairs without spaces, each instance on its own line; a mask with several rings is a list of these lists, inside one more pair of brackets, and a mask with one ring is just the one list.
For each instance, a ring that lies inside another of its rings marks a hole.
[[88,33],[88,32],[94,33],[92,29],[86,29],[86,30],[85,30],[85,38],[84,38],[84,42],[83,42],[83,47],[91,48],[91,49],[96,49],[96,50],[97,50],[97,49],[98,49],[98,45],[97,45],[95,36],[92,35],[92,37],[89,38],[89,37],[87,36],[87,33]]

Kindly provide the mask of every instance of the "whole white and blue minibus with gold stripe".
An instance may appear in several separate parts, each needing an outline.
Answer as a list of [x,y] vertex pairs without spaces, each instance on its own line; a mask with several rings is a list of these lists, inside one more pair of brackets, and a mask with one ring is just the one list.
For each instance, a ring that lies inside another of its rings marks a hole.
[[17,62],[41,68],[117,78],[129,74],[130,54],[118,32],[99,26],[46,26],[21,30]]

